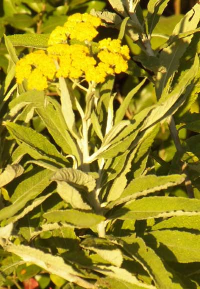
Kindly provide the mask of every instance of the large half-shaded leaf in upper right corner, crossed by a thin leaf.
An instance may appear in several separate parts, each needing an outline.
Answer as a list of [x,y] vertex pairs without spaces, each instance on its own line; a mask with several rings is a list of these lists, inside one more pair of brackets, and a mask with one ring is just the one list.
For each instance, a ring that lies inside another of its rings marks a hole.
[[[186,32],[195,29],[200,17],[199,4],[195,4],[192,9],[176,24],[172,34],[176,35],[180,32]],[[160,98],[161,93],[166,86],[169,77],[177,70],[179,60],[191,41],[192,35],[178,39],[170,46],[163,49],[159,59],[162,65],[166,68],[165,73],[157,73],[156,76],[156,95]]]

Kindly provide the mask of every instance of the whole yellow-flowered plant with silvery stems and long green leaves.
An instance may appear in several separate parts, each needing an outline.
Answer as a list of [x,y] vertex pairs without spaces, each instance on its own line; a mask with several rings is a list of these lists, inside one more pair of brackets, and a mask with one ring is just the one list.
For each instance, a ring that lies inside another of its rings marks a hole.
[[[199,200],[168,195],[179,186],[191,197],[190,172],[198,170],[197,153],[187,150],[192,140],[181,145],[175,121],[197,97],[198,56],[193,53],[187,69],[179,62],[198,31],[199,6],[156,51],[150,38],[167,1],[149,1],[146,26],[139,1],[116,2],[110,1],[120,16],[75,13],[50,35],[5,36],[7,88],[13,77],[16,83],[6,92],[12,100],[2,119],[12,144],[0,174],[1,284],[13,268],[20,281],[36,275],[39,282],[48,272],[63,289],[194,288],[180,271],[181,263],[200,261],[193,234]],[[118,38],[99,37],[99,26],[110,22]],[[125,39],[143,53],[130,56]],[[31,47],[20,59],[13,47],[19,42]],[[177,50],[182,54],[174,60]],[[140,81],[118,105],[115,77],[136,77],[135,70]],[[155,86],[155,104],[129,115],[146,82]],[[170,165],[150,152],[165,122],[176,148]]]

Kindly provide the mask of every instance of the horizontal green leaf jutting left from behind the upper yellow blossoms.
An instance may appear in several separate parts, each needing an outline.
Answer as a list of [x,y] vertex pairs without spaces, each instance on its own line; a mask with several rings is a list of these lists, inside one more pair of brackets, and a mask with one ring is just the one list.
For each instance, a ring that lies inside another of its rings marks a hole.
[[13,34],[8,35],[7,38],[10,40],[13,46],[23,47],[34,47],[38,49],[48,47],[48,38],[50,34]]

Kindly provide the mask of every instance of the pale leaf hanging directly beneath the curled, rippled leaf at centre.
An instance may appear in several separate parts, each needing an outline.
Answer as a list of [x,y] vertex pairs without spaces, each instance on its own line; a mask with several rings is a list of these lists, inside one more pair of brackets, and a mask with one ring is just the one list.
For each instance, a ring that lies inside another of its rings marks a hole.
[[91,207],[83,201],[81,194],[72,186],[63,181],[57,181],[57,193],[74,209],[91,210]]

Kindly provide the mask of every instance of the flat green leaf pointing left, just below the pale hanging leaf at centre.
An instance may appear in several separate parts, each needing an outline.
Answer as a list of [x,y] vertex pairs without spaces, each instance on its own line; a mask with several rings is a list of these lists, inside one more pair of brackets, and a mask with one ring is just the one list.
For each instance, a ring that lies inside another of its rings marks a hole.
[[78,210],[57,210],[43,214],[43,217],[49,223],[66,222],[75,227],[89,228],[104,221],[104,217],[92,213],[84,213]]

